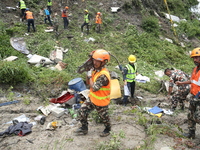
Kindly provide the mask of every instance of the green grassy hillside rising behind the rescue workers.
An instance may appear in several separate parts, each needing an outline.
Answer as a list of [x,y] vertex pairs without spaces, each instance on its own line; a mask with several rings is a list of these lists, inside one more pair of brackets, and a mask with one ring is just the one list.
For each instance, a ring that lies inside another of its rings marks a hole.
[[[27,32],[25,22],[19,22],[19,19],[16,18],[11,20],[14,14],[19,13],[18,11],[17,13],[2,14],[4,17],[0,21],[0,58],[2,60],[15,55],[19,59],[14,62],[1,63],[1,83],[17,85],[24,82],[31,84],[45,99],[45,94],[51,93],[52,88],[66,89],[67,82],[71,79],[84,78],[85,74],[77,74],[76,70],[88,58],[88,54],[92,50],[99,48],[111,52],[123,66],[127,63],[127,57],[130,54],[136,55],[138,72],[151,79],[148,84],[138,83],[137,88],[144,88],[152,93],[157,93],[161,86],[160,82],[155,79],[154,71],[174,67],[187,73],[191,72],[194,65],[188,54],[196,46],[192,42],[194,39],[198,41],[200,31],[197,19],[190,19],[191,13],[188,8],[197,4],[196,0],[168,1],[168,7],[173,15],[188,20],[179,23],[176,28],[177,35],[174,35],[169,20],[163,15],[163,13],[167,13],[166,5],[158,0],[123,0],[117,1],[116,4],[105,0],[101,1],[103,5],[93,0],[78,2],[78,4],[67,2],[55,1],[53,6],[54,13],[57,12],[59,15],[61,14],[60,10],[63,9],[62,6],[68,5],[70,7],[69,29],[63,29],[62,18],[59,16],[59,36],[56,36],[54,32],[44,32],[48,25],[43,23],[44,17],[39,15],[39,10],[42,6],[45,6],[45,2],[27,1],[27,7],[36,14],[35,24],[37,29],[37,32],[29,35],[25,35]],[[13,2],[10,2],[10,4],[14,5]],[[110,11],[111,6],[120,6],[120,11],[112,13]],[[95,32],[94,21],[92,20],[90,34],[81,36],[80,26],[83,23],[84,9],[89,10],[92,19],[97,11],[102,12],[101,34]],[[159,14],[159,17],[154,12]],[[68,39],[69,35],[73,38]],[[183,35],[187,37],[187,40],[182,38]],[[55,49],[54,46],[69,49],[64,54],[63,60],[68,64],[67,68],[60,72],[29,65],[26,55],[11,47],[10,37],[25,37],[27,48],[31,54],[44,57],[49,57],[50,52]],[[90,37],[94,38],[95,41],[86,42],[85,40]],[[166,37],[172,39],[173,43],[164,40]],[[185,47],[180,46],[180,43],[184,43]],[[117,72],[121,77],[121,72],[115,69],[116,65],[118,65],[117,61],[111,58],[108,68]]]

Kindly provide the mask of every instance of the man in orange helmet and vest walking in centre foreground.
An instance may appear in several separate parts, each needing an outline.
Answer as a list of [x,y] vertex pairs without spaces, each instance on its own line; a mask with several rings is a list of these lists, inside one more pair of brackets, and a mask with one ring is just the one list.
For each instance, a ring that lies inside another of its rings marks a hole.
[[108,115],[108,105],[110,103],[110,74],[105,65],[110,60],[110,54],[103,49],[92,52],[93,68],[88,71],[86,82],[90,86],[89,98],[84,101],[79,109],[78,120],[82,126],[75,133],[88,133],[89,112],[96,109],[99,117],[104,123],[105,129],[100,134],[101,137],[108,136],[111,131],[111,123]]

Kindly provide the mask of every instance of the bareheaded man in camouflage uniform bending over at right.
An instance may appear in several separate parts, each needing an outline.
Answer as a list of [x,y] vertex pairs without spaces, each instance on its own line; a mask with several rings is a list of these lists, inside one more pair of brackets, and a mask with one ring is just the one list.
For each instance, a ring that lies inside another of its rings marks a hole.
[[[169,89],[168,89],[168,98],[170,98],[173,90],[173,86],[176,81],[188,81],[189,76],[181,70],[172,70],[172,69],[165,69],[165,75],[167,75],[169,79]],[[171,99],[171,109],[175,110],[177,104],[179,102],[181,110],[184,110],[184,100],[186,100],[187,95],[190,92],[189,84],[179,85],[178,90],[172,95]]]

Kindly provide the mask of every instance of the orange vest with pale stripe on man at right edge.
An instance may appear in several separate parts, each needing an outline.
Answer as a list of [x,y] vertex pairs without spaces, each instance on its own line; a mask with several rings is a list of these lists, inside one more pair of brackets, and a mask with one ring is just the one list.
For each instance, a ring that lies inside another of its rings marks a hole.
[[193,95],[196,95],[198,92],[200,92],[200,71],[196,73],[197,67],[193,69],[192,76],[190,78],[191,80],[191,88],[190,93]]

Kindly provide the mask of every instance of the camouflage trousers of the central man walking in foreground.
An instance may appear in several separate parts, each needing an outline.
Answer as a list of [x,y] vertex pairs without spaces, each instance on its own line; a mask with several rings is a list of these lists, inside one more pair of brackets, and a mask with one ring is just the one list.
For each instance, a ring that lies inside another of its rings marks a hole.
[[94,109],[96,109],[104,126],[111,127],[110,117],[108,115],[108,106],[96,106],[90,101],[90,99],[85,100],[85,102],[81,105],[81,108],[78,111],[78,120],[80,120],[82,126],[88,126],[88,115]]

